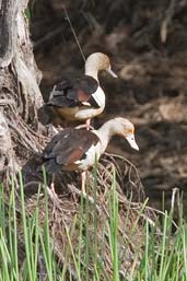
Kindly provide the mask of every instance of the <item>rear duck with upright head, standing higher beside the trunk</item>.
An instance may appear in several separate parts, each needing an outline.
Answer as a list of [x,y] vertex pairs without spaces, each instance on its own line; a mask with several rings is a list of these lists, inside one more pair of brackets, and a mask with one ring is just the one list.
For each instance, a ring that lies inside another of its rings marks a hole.
[[103,52],[93,52],[85,60],[84,74],[77,79],[67,79],[54,86],[47,106],[62,120],[86,120],[103,113],[105,93],[100,86],[98,72],[105,70],[117,78],[112,70],[109,57]]

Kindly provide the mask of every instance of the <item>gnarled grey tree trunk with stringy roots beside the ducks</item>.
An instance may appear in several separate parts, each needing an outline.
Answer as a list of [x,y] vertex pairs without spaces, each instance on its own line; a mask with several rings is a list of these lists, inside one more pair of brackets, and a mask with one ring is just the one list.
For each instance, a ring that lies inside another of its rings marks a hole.
[[0,182],[42,148],[38,71],[25,16],[27,0],[0,0]]

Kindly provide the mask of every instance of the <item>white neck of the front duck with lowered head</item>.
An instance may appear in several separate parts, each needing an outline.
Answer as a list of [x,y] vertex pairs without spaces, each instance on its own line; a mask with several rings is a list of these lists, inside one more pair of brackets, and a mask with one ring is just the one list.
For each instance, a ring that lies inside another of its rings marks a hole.
[[95,131],[95,133],[98,136],[101,143],[102,143],[102,153],[106,150],[109,140],[114,134],[116,134],[115,131],[115,121],[109,120],[105,122],[98,130]]

